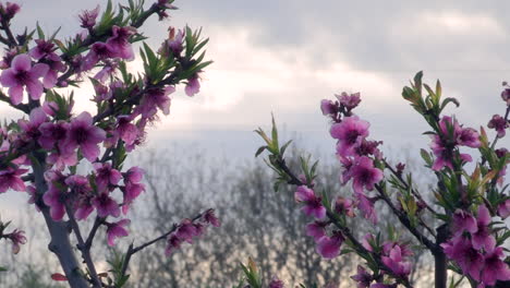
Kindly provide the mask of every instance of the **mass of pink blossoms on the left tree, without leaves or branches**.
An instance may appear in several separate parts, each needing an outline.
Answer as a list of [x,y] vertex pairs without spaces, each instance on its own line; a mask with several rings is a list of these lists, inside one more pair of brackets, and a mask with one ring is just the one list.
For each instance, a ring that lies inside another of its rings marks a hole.
[[[159,1],[157,4],[167,5],[166,3],[168,1]],[[5,17],[14,15],[17,10],[17,5],[8,3],[7,8],[0,7],[0,14]],[[99,7],[84,11],[80,15],[81,26],[85,28],[78,35],[82,40],[90,38],[88,33],[94,29],[98,14]],[[73,71],[80,79],[96,67],[102,67],[94,76],[96,80],[94,100],[98,106],[116,104],[117,94],[125,89],[126,84],[114,75],[120,61],[134,59],[130,39],[135,34],[134,27],[113,25],[111,36],[106,41],[92,44],[88,53],[84,57],[74,56],[68,61],[71,63],[70,67],[66,67],[62,57],[57,53],[58,47],[52,40],[36,39],[35,47],[28,52],[22,52],[16,46],[8,50],[2,60],[4,70],[0,75],[0,83],[9,88],[11,104],[20,105],[24,103],[24,89],[28,94],[29,103],[38,101],[45,89],[51,89],[56,85],[66,85],[63,82],[59,83],[60,73]],[[172,49],[173,57],[181,57],[183,35],[184,32],[180,32],[178,37],[172,35],[163,44],[163,48]],[[163,48],[161,50],[165,50]],[[196,74],[189,79],[185,88],[187,95],[193,96],[199,91],[197,80]],[[8,189],[27,191],[32,194],[31,203],[35,203],[36,206],[42,204],[36,201],[35,187],[26,187],[23,180],[24,176],[28,177],[29,169],[26,168],[33,165],[24,152],[40,148],[47,153],[45,180],[48,183],[48,191],[44,193],[42,200],[44,204],[50,207],[54,220],[63,219],[68,206],[74,211],[74,217],[78,220],[87,219],[94,211],[100,218],[119,217],[121,209],[125,215],[133,201],[145,190],[142,183],[143,170],[132,167],[121,172],[116,169],[113,159],[111,163],[99,159],[101,144],[107,151],[120,145],[123,145],[126,152],[133,151],[136,145],[143,143],[146,124],[155,120],[158,109],[165,115],[169,113],[169,94],[174,91],[174,85],[148,88],[137,99],[138,104],[132,112],[118,115],[114,121],[100,124],[98,122],[102,119],[93,117],[86,111],[73,117],[72,99],[62,107],[47,97],[40,107],[31,110],[28,120],[17,121],[16,129],[11,129],[9,132],[7,128],[0,130],[0,152],[5,153],[1,158],[7,158],[16,152],[20,154],[20,157],[11,160],[9,167],[0,170],[0,193]],[[133,89],[131,93],[139,91]],[[66,170],[68,167],[78,165],[82,157],[90,161],[94,167],[88,176]],[[122,201],[112,196],[116,190],[122,193]],[[110,244],[113,243],[114,236],[126,235],[122,228],[126,224],[127,219],[114,224],[105,223],[110,231],[108,233]]]

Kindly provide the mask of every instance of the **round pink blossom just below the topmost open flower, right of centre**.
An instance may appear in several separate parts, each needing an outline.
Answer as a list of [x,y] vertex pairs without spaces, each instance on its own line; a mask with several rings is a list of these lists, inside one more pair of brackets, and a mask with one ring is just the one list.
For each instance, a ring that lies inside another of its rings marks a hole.
[[351,175],[353,178],[352,187],[356,193],[363,193],[363,188],[368,191],[374,190],[374,184],[382,180],[382,171],[374,167],[374,161],[362,156],[357,158],[357,161],[351,168]]

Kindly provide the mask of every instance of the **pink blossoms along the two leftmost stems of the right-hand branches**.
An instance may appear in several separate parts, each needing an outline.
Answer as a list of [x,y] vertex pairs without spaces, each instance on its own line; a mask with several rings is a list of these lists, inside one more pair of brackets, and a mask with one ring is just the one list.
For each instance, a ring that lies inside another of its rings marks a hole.
[[[377,196],[368,195],[366,191],[373,191],[384,177],[382,170],[376,165],[376,161],[382,158],[378,149],[381,142],[367,140],[369,123],[352,113],[361,101],[359,93],[351,95],[342,93],[337,95],[337,101],[323,100],[321,110],[333,122],[330,133],[333,139],[338,140],[337,156],[344,168],[341,182],[347,184],[352,180],[354,199],[338,196],[331,207],[331,213],[340,217],[354,217],[355,208],[357,208],[365,218],[376,224],[377,214],[374,204]],[[316,250],[323,257],[333,259],[340,254],[340,247],[345,236],[341,229],[328,228],[332,224],[332,220],[328,219],[331,217],[328,215],[329,207],[325,207],[321,196],[314,192],[314,183],[306,183],[304,177],[300,178],[305,184],[298,187],[294,199],[303,204],[303,213],[316,218],[306,226],[306,233],[314,238]],[[410,275],[412,253],[405,244],[394,241],[385,242],[377,248],[373,244],[369,244],[365,238],[364,249],[377,254],[392,276],[406,278]],[[360,266],[359,275],[353,276],[353,279],[359,281],[359,287],[394,287],[384,284],[382,275],[384,272],[374,277]],[[375,283],[371,286],[373,281]]]

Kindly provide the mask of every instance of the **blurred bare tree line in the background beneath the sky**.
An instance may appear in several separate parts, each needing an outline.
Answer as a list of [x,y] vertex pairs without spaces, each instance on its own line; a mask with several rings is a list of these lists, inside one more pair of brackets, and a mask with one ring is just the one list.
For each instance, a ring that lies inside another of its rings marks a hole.
[[[296,149],[290,153],[300,155]],[[402,160],[409,159],[409,155],[400,157],[403,157]],[[295,159],[290,166],[296,168],[296,157],[289,158]],[[123,252],[133,239],[138,244],[153,239],[167,231],[174,221],[192,217],[205,207],[216,209],[221,227],[209,228],[205,237],[192,245],[183,244],[170,256],[163,253],[165,243],[137,254],[131,266],[132,277],[137,280],[131,281],[130,287],[231,287],[241,276],[239,263],[245,262],[248,256],[257,263],[265,279],[278,275],[294,285],[318,284],[320,287],[333,281],[341,283],[341,287],[352,286],[349,276],[356,268],[356,256],[349,254],[327,261],[315,252],[313,239],[305,235],[305,226],[312,219],[298,208],[293,200],[294,191],[289,187],[283,185],[274,192],[275,176],[260,159],[240,163],[172,146],[139,154],[134,164],[146,170],[147,191],[134,207],[132,235],[130,239],[118,241],[114,251],[106,245],[95,245],[96,249],[110,255]],[[413,175],[425,170],[420,163],[406,160],[406,170],[414,171]],[[319,163],[317,187],[330,195],[349,196],[350,187],[340,185],[339,175],[340,167],[336,161]],[[416,184],[420,189],[427,189],[429,179],[421,175]],[[380,207],[378,215],[382,223],[378,227],[398,223]],[[32,226],[36,225],[28,221]],[[352,227],[360,239],[368,231],[374,232],[374,228],[360,217]],[[31,230],[40,236],[37,239],[32,237],[29,241],[47,244],[45,231],[37,228]],[[387,231],[381,229],[380,232],[385,236]],[[402,237],[409,238],[406,235]],[[9,255],[9,252],[2,251],[0,255]],[[10,263],[13,269],[0,273],[0,286],[59,287],[49,276],[57,267],[51,260],[39,259],[32,252],[28,254],[29,257],[12,257]],[[418,279],[420,286],[425,287],[432,283],[430,259],[424,254],[415,257],[420,265],[412,279]],[[108,269],[106,263],[101,268]]]

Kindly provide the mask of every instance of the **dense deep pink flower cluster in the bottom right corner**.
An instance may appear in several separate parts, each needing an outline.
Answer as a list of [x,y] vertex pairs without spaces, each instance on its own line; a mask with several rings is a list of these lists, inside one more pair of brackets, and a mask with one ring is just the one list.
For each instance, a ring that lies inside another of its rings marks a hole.
[[458,209],[452,219],[452,238],[441,244],[445,254],[464,275],[481,283],[478,287],[493,286],[496,280],[510,280],[503,248],[496,245],[490,223],[491,216],[485,205],[478,207],[476,218],[467,211]]

